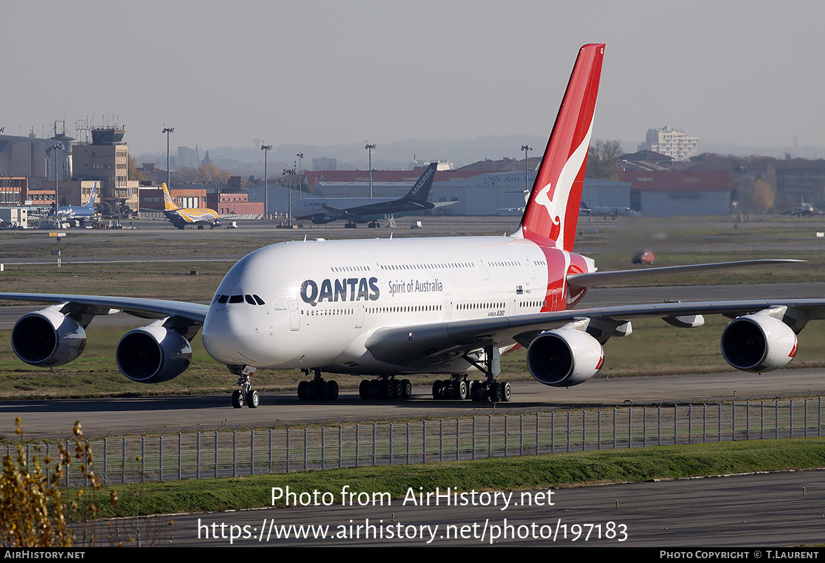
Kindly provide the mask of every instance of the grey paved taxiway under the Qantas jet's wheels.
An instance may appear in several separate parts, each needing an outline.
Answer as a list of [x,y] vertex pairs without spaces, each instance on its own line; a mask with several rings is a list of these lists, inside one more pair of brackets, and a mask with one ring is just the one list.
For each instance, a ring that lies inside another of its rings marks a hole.
[[[228,387],[233,383],[229,381]],[[825,370],[790,369],[763,376],[751,373],[645,378],[594,379],[567,389],[538,382],[512,383],[512,401],[436,401],[429,387],[413,387],[408,401],[361,401],[356,391],[342,392],[337,401],[299,401],[295,392],[262,393],[257,409],[233,409],[229,392],[224,395],[148,396],[52,401],[0,401],[0,428],[13,429],[21,416],[29,438],[65,435],[81,420],[87,435],[122,435],[165,430],[215,429],[219,426],[266,428],[271,425],[304,425],[325,421],[455,418],[488,415],[490,411],[519,414],[553,408],[592,408],[613,405],[700,402],[776,396],[825,394]]]

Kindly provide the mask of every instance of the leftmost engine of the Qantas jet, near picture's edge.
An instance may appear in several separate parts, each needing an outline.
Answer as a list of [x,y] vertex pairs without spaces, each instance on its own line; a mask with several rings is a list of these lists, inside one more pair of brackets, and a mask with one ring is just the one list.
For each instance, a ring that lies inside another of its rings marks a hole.
[[68,364],[86,349],[86,331],[71,317],[43,309],[23,315],[12,328],[12,350],[40,368]]

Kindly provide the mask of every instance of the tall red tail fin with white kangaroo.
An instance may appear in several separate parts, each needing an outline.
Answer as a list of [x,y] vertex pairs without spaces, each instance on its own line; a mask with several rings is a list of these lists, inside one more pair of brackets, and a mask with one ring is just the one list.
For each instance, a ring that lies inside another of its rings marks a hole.
[[539,174],[521,218],[523,237],[573,250],[605,45],[578,52]]

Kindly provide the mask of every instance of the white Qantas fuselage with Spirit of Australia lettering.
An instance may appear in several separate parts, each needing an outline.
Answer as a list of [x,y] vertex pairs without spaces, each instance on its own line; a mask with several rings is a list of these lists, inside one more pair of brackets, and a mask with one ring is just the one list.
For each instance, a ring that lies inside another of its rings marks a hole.
[[[219,285],[203,326],[204,345],[214,359],[230,365],[360,374],[420,371],[372,358],[365,341],[390,326],[563,309],[571,257],[579,265],[586,262],[579,271],[592,271],[590,260],[519,237],[266,246],[238,261]],[[549,270],[555,274],[549,276]],[[469,363],[459,359],[430,371],[466,368]]]

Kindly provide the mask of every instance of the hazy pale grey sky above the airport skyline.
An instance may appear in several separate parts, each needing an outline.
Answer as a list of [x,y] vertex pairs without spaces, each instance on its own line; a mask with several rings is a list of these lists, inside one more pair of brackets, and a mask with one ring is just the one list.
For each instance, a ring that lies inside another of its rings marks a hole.
[[[118,116],[130,152],[549,134],[606,43],[595,138],[825,147],[823,2],[2,4],[0,127]],[[625,147],[635,149],[633,147]]]

